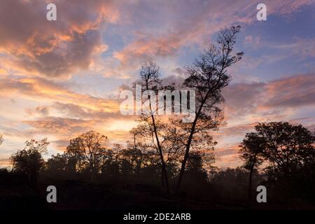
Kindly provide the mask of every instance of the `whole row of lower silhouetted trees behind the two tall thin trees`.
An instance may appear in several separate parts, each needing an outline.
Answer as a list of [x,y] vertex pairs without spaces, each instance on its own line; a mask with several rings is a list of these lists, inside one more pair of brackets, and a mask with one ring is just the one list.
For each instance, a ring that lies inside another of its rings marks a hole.
[[[47,150],[48,141],[27,141],[25,148],[11,157],[11,173],[27,176],[27,183],[34,189],[41,176],[53,181],[72,179],[129,188],[146,186],[148,191],[155,189],[160,195],[167,194],[155,148],[147,148],[137,138],[128,141],[125,148],[118,144],[106,146],[106,141],[104,135],[94,131],[81,134],[70,140],[63,154],[52,155],[47,161],[42,153]],[[192,151],[181,195],[248,204],[255,201],[255,188],[264,185],[271,203],[314,205],[314,141],[314,133],[302,125],[281,122],[256,125],[255,132],[246,134],[240,145],[242,167],[221,170],[213,167],[213,153]],[[180,174],[181,160],[180,156],[165,160],[172,188]]]

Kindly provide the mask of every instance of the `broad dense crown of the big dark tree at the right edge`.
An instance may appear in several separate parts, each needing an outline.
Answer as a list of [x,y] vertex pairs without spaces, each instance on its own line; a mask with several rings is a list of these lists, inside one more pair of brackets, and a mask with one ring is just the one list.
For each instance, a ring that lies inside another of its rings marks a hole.
[[264,141],[262,157],[281,174],[289,174],[314,164],[314,135],[302,125],[272,122],[255,126],[257,136]]

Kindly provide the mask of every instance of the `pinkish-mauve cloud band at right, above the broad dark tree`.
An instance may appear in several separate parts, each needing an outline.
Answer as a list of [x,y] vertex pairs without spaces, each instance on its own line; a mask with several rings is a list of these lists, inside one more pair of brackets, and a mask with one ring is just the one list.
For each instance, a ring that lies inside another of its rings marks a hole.
[[315,104],[315,75],[302,74],[272,80],[267,83],[235,83],[225,88],[228,116],[246,116],[250,113],[279,108],[297,109]]

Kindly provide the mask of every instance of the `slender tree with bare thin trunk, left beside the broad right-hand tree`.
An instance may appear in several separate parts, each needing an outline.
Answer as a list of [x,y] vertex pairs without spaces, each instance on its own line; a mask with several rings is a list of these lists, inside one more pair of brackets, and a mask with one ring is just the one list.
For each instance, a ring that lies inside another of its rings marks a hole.
[[243,167],[249,170],[248,179],[248,200],[251,200],[253,171],[262,164],[262,149],[265,145],[264,139],[257,133],[247,133],[241,143],[241,159],[244,161]]

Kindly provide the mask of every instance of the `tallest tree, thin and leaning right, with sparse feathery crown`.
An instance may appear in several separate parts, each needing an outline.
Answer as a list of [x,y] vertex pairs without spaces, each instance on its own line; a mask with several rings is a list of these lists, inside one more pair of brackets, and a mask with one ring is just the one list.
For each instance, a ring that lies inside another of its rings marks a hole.
[[211,45],[208,50],[197,57],[193,66],[187,69],[188,78],[184,81],[183,86],[195,90],[196,111],[193,123],[180,123],[183,131],[187,133],[188,140],[185,144],[185,155],[181,162],[176,193],[179,193],[181,187],[194,138],[207,134],[209,130],[217,129],[223,120],[221,104],[224,99],[221,92],[230,82],[227,69],[232,64],[239,62],[244,55],[243,52],[232,55],[239,29],[240,26],[221,30],[218,34],[218,46]]

